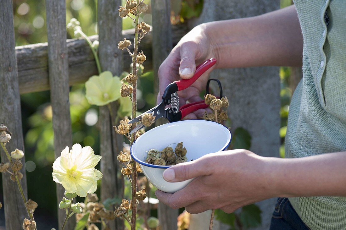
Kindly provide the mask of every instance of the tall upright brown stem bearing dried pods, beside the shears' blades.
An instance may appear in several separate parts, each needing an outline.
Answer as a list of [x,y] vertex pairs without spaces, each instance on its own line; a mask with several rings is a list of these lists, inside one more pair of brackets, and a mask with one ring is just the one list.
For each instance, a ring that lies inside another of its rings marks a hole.
[[[137,5],[139,3],[139,0],[137,0]],[[136,12],[136,19],[135,19],[135,28],[138,26],[138,18],[139,14]],[[134,75],[137,74],[137,53],[138,53],[138,33],[135,29],[135,40],[134,40],[134,48],[133,48],[133,55],[132,55],[132,73]],[[133,86],[133,94],[132,94],[132,117],[136,117],[136,111],[137,111],[137,81],[132,84]],[[136,126],[136,123],[132,124],[132,129],[134,129]],[[131,136],[131,145],[136,139],[136,133],[132,134]],[[136,212],[137,212],[137,202],[136,202],[136,192],[137,192],[137,172],[136,172],[136,162],[134,159],[131,159],[131,165],[132,165],[132,214],[131,214],[131,230],[136,230]]]

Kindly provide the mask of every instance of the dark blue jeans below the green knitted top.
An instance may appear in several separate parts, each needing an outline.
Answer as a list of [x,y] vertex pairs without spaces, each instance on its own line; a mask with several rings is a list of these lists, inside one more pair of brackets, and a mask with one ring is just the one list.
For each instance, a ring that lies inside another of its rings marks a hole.
[[309,230],[294,211],[287,197],[279,197],[275,204],[270,230]]

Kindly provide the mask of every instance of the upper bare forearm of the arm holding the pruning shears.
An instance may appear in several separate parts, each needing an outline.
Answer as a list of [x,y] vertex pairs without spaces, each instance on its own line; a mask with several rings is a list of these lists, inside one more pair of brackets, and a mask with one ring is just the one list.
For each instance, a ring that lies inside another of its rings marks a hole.
[[303,38],[295,6],[264,15],[202,24],[218,68],[301,66]]

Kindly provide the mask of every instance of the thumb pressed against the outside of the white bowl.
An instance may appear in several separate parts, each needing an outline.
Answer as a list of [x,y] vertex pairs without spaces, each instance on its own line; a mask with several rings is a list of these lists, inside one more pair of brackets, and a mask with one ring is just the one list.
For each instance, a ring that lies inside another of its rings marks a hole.
[[210,175],[210,168],[205,164],[205,158],[180,163],[167,168],[163,172],[163,178],[168,182],[186,181],[198,176]]

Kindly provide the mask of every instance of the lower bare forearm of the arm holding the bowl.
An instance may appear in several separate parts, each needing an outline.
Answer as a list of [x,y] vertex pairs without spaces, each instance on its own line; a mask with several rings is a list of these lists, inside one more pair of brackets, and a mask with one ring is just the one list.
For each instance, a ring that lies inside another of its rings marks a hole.
[[275,196],[346,196],[346,152],[266,160]]

